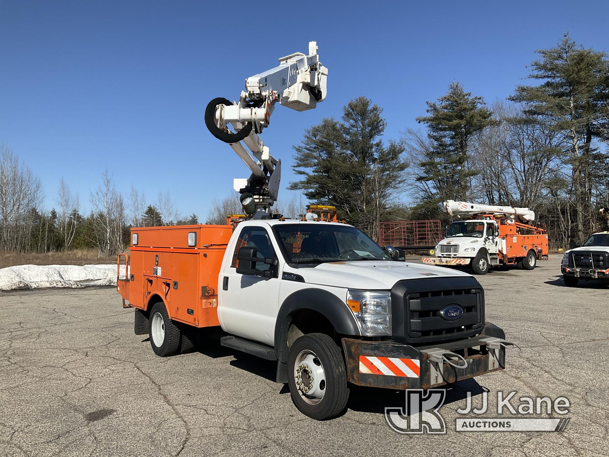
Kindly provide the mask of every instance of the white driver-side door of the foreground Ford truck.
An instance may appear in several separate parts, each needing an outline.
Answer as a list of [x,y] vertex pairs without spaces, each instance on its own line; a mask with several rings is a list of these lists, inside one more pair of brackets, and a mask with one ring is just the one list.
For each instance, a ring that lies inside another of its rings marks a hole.
[[237,253],[244,246],[256,247],[259,258],[278,258],[273,236],[265,227],[243,227],[233,241],[232,260],[220,274],[218,317],[228,333],[274,345],[275,321],[279,308],[279,286],[283,261],[276,266],[256,263],[256,269],[274,269],[273,277],[244,275],[236,272]]

